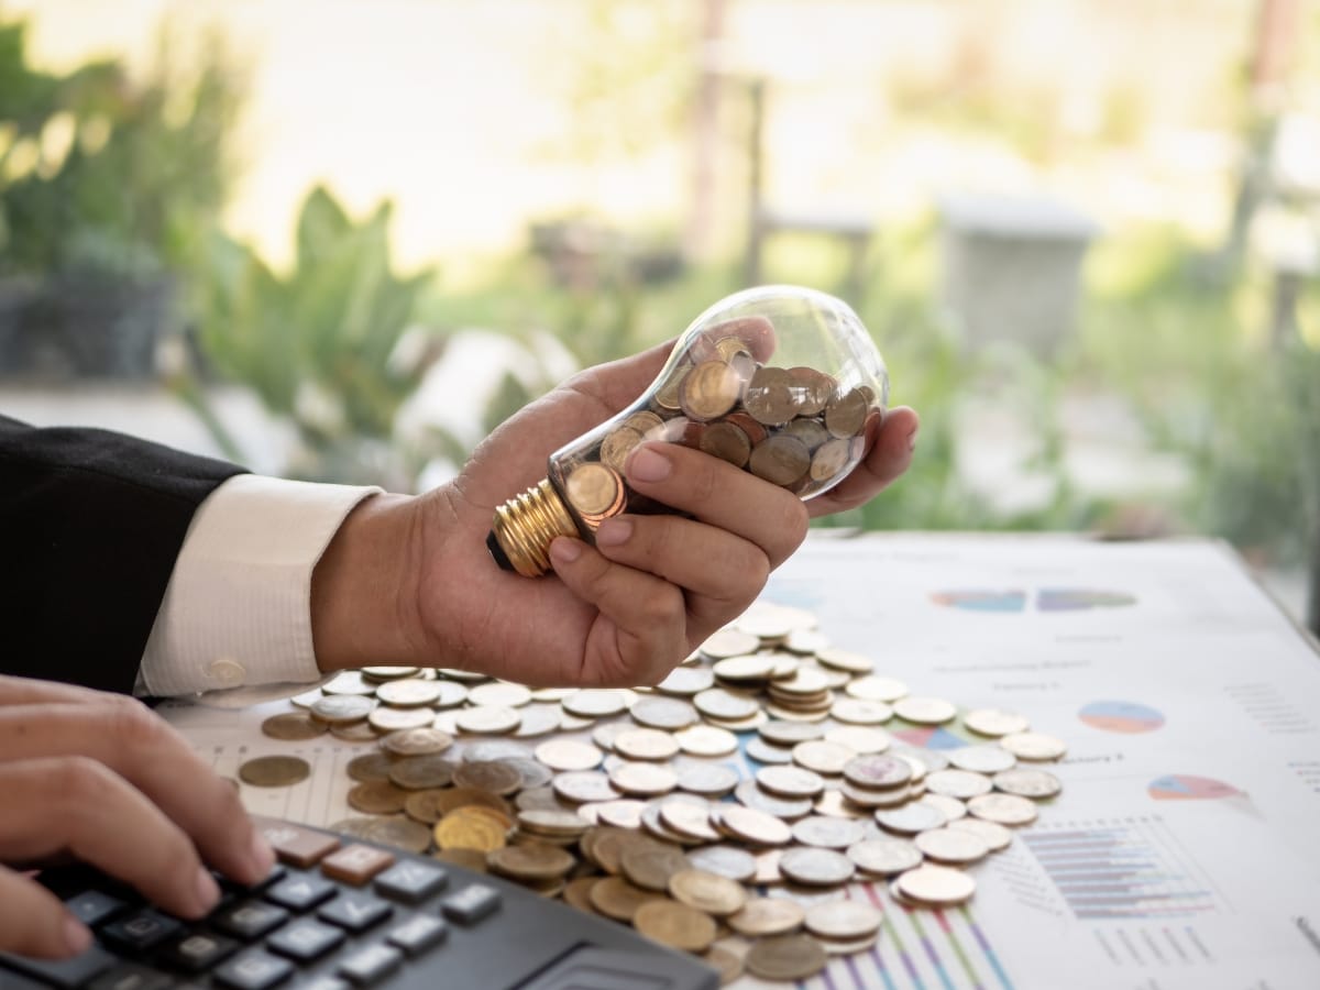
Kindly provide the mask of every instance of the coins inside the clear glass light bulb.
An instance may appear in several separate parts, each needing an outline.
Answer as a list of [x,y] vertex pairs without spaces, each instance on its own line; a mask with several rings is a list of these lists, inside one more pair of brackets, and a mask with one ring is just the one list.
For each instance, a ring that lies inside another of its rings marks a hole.
[[879,409],[867,384],[846,387],[810,367],[759,363],[755,341],[774,339],[766,317],[719,323],[694,339],[644,408],[561,465],[562,494],[591,528],[626,506],[628,454],[645,440],[705,450],[807,496],[846,474]]

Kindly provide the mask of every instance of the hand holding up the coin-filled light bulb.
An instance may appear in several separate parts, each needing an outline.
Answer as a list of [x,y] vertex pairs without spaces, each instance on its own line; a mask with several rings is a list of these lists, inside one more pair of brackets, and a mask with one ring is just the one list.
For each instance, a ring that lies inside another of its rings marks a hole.
[[601,525],[595,546],[557,539],[553,576],[499,570],[486,550],[495,507],[536,484],[554,450],[631,405],[671,346],[587,370],[523,409],[453,484],[363,503],[313,578],[322,669],[393,661],[527,684],[653,684],[751,605],[810,515],[862,504],[907,469],[917,421],[904,408],[875,417],[862,463],[808,503],[708,454],[645,444],[628,459],[630,487],[689,519],[624,513]]

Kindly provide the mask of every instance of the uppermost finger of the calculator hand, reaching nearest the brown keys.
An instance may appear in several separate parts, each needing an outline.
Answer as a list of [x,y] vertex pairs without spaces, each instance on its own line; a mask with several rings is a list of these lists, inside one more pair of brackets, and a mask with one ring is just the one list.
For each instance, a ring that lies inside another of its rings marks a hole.
[[154,803],[226,875],[255,883],[269,873],[273,855],[234,788],[141,704],[112,694],[100,700],[0,708],[0,754],[20,762],[92,755]]

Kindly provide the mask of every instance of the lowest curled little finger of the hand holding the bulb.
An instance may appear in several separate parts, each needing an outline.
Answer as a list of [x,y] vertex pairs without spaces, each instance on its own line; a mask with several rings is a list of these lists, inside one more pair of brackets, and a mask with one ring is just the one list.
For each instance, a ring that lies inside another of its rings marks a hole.
[[678,587],[614,564],[581,540],[554,540],[550,562],[560,581],[601,612],[586,635],[577,682],[657,684],[686,655],[686,603]]

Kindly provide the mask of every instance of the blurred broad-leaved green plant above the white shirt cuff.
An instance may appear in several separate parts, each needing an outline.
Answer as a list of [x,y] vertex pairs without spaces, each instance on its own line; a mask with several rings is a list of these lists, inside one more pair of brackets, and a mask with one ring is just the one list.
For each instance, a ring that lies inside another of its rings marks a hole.
[[391,355],[432,272],[395,273],[392,211],[384,202],[354,222],[326,189],[314,189],[298,214],[286,275],[230,238],[213,243],[202,350],[296,425],[313,454],[301,467],[309,477],[364,474],[345,447],[387,440],[417,384],[420,370],[397,367]]

